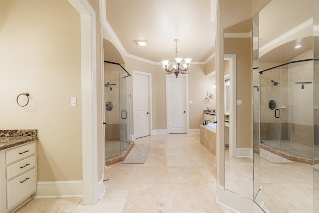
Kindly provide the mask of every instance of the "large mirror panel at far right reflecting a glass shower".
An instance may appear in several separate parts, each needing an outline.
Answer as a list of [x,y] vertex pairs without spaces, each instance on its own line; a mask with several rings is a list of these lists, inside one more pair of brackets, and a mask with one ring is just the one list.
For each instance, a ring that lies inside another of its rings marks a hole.
[[[319,125],[313,8],[312,0],[291,0],[289,5],[271,0],[258,14],[259,61],[257,71],[253,71],[253,86],[258,86],[259,94],[253,90],[253,114],[254,134],[260,131],[260,158],[254,157],[254,164],[260,164],[262,200],[255,201],[265,212],[319,210],[318,177],[313,166],[314,153],[318,156]],[[315,8],[318,13],[319,7]],[[276,101],[274,109],[269,108],[271,100]],[[259,127],[255,122],[258,114]],[[255,139],[254,135],[257,147]]]

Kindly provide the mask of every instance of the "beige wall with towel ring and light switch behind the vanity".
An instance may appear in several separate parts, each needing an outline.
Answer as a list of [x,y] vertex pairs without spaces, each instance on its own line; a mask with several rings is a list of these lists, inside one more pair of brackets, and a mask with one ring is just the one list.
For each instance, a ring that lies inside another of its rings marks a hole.
[[82,180],[78,12],[66,0],[1,0],[0,19],[0,129],[38,129],[38,181]]

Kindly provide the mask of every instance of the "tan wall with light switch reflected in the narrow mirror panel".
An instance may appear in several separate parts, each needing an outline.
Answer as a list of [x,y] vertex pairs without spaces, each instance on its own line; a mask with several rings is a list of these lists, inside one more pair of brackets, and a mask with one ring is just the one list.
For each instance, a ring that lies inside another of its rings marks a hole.
[[236,147],[251,148],[252,112],[252,40],[224,38],[224,54],[236,54]]

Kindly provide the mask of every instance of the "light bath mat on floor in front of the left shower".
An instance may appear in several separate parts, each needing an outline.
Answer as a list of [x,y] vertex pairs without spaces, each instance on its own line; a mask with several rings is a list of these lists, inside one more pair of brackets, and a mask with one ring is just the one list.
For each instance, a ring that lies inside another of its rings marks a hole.
[[144,164],[149,154],[150,144],[134,144],[123,164]]

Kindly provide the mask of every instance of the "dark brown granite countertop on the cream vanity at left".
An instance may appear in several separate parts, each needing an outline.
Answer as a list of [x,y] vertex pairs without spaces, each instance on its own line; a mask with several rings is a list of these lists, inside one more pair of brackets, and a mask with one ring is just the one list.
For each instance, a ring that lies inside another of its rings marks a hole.
[[37,130],[0,130],[0,150],[38,139]]

